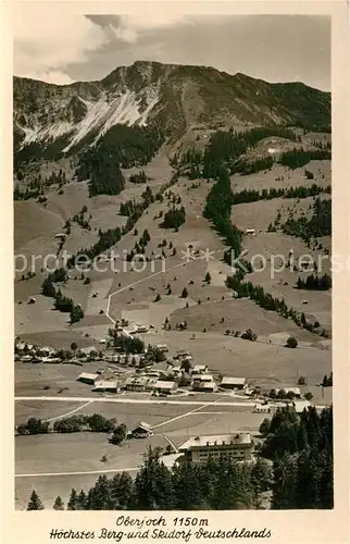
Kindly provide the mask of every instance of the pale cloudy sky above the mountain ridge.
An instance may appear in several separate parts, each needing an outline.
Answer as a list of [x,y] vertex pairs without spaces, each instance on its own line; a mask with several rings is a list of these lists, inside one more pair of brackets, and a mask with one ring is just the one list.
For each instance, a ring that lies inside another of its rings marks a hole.
[[330,90],[327,16],[186,15],[154,9],[83,15],[35,5],[22,4],[14,18],[18,76],[63,85],[101,79],[116,66],[149,60]]

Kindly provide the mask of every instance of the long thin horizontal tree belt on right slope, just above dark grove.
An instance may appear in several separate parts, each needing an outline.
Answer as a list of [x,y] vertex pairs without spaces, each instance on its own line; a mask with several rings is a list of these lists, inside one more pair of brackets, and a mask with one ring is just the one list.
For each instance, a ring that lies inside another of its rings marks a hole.
[[300,187],[272,187],[271,189],[243,189],[234,193],[234,203],[257,202],[258,200],[272,200],[273,198],[308,198],[317,196],[321,193],[330,194],[330,185],[322,187],[313,183],[310,187],[301,185]]

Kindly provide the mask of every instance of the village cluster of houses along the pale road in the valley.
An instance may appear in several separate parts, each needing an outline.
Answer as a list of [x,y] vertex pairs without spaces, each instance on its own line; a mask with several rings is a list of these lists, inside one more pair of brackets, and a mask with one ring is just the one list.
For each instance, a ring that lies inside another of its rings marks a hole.
[[[148,330],[146,325],[117,322],[116,338],[138,338],[135,333]],[[132,331],[132,332],[130,332]],[[142,353],[123,350],[113,346],[111,338],[102,338],[99,346],[77,349],[72,344],[72,351],[54,349],[50,346],[34,346],[15,341],[15,360],[22,363],[76,366],[76,381],[85,384],[87,391],[95,394],[127,395],[140,393],[154,397],[184,397],[200,394],[226,395],[241,399],[253,399],[254,410],[271,412],[274,404],[293,404],[297,411],[311,406],[312,394],[302,391],[303,380],[296,386],[276,387],[263,391],[251,385],[251,380],[242,375],[224,375],[220,369],[197,363],[187,349],[177,349],[170,354],[166,344],[151,344]],[[132,348],[133,350],[133,348]],[[91,363],[93,369],[91,369]],[[96,368],[98,363],[99,368]],[[84,368],[79,372],[79,367]],[[321,385],[321,384],[320,384]],[[45,387],[43,387],[45,388]]]

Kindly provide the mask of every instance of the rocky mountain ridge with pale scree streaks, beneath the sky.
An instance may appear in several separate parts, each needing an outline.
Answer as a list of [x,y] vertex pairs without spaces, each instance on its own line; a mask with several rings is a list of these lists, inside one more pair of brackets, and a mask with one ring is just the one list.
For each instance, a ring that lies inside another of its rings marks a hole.
[[99,82],[64,86],[14,77],[13,99],[20,162],[33,154],[72,154],[120,125],[133,127],[133,135],[160,131],[176,143],[193,126],[330,124],[330,95],[301,83],[148,61],[117,67]]

